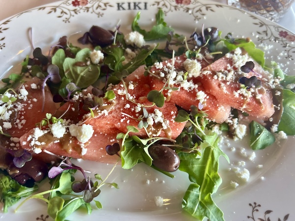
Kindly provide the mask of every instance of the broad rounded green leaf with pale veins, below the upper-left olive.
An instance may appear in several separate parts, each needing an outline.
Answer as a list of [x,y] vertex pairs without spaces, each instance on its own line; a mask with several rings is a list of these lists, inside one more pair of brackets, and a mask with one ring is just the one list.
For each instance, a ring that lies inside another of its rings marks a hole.
[[[88,87],[96,82],[100,75],[100,68],[97,65],[87,65],[91,50],[89,48],[79,51],[75,58],[66,57],[63,62],[65,76],[78,87]],[[85,65],[77,65],[83,62]]]

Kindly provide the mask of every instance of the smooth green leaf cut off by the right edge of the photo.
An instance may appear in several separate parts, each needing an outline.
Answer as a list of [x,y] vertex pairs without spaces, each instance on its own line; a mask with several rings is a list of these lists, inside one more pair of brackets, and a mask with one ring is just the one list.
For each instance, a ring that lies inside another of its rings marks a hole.
[[291,90],[283,89],[283,113],[278,130],[295,135],[295,93]]

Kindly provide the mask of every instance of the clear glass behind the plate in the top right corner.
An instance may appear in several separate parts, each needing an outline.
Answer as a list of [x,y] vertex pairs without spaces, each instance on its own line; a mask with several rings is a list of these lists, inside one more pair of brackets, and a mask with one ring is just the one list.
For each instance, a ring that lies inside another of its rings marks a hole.
[[228,4],[278,22],[295,0],[228,0]]

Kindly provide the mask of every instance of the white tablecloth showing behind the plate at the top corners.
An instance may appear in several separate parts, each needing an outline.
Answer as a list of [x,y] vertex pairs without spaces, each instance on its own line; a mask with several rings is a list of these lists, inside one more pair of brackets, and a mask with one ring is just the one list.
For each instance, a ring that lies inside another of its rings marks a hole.
[[[54,1],[57,0],[1,0],[0,21],[19,12]],[[227,0],[214,1],[227,3]],[[292,8],[287,12],[284,18],[278,22],[278,24],[295,33],[295,4],[293,4]]]

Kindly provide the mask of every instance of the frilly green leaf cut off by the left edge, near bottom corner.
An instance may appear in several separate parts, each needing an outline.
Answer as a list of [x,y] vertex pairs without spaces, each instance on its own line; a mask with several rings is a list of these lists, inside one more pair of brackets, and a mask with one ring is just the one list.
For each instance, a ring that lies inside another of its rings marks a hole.
[[4,203],[3,212],[7,213],[10,206],[17,203],[22,197],[29,196],[37,189],[37,185],[31,188],[25,187],[10,176],[0,173],[0,202]]

